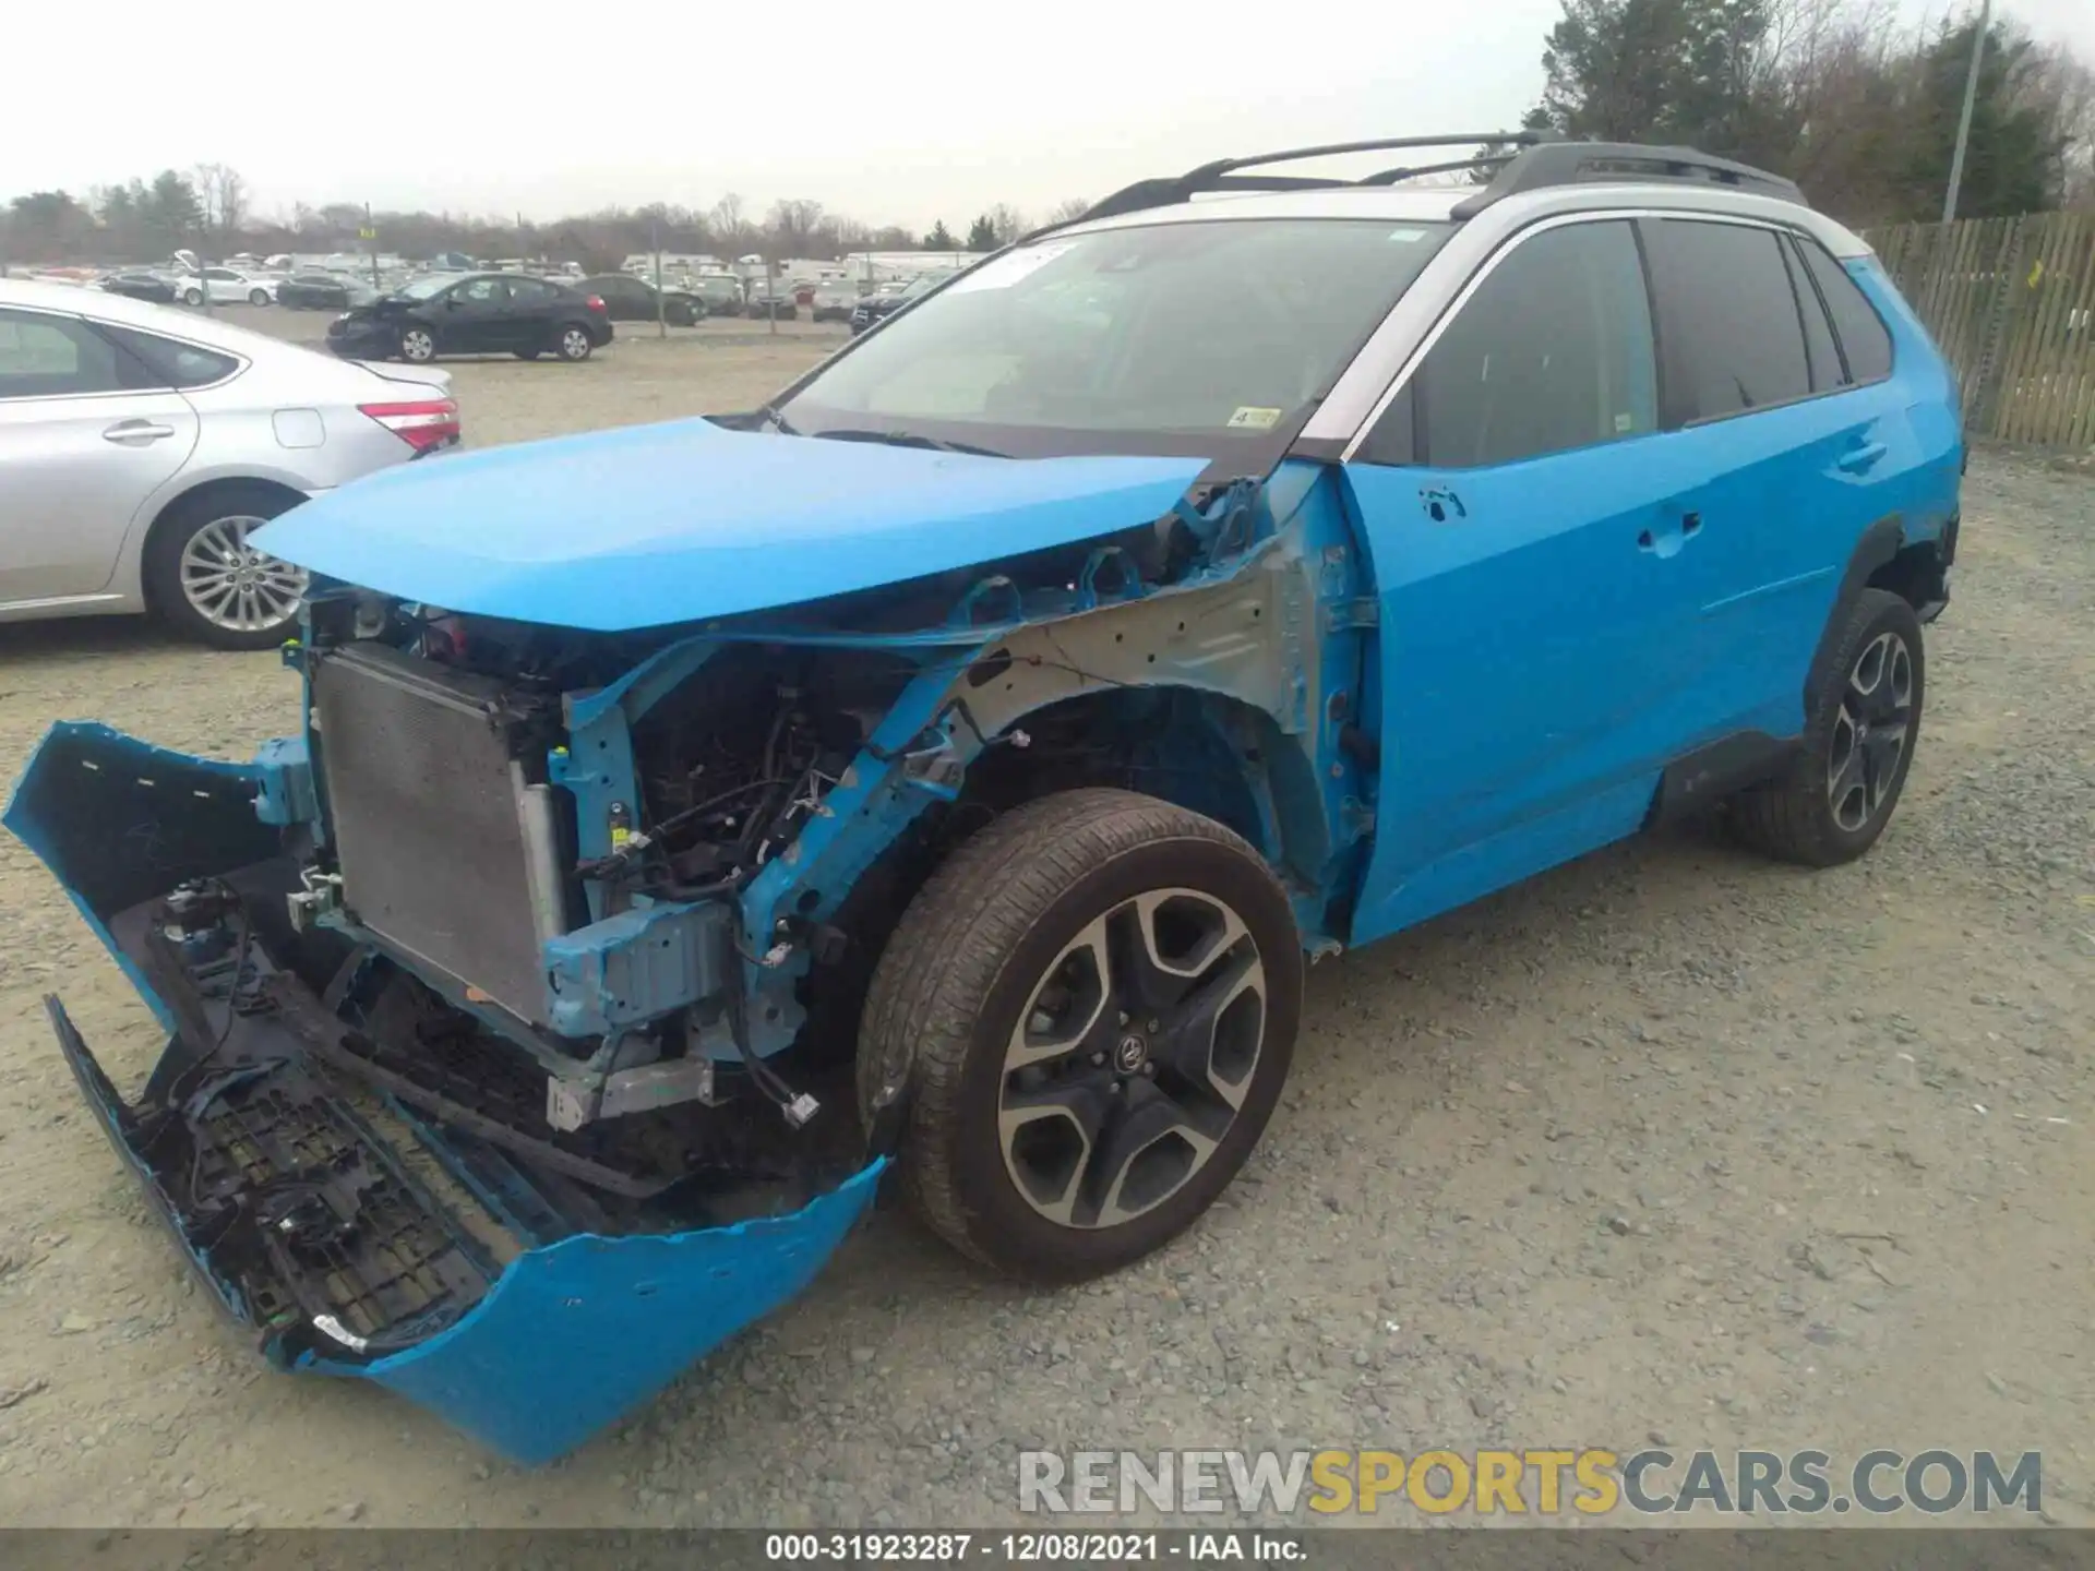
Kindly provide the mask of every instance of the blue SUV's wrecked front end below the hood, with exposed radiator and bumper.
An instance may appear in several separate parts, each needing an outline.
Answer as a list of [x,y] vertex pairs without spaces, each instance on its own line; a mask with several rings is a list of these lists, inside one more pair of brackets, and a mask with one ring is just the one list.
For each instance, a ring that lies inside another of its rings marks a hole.
[[268,1357],[541,1462],[779,1307],[899,1137],[909,1066],[853,1062],[886,932],[1041,792],[1209,813],[1332,947],[1364,563],[1314,467],[1150,484],[1163,519],[790,614],[574,630],[323,580],[304,735],[251,765],[54,727],[6,827],[170,1043],[126,1102],[52,1022]]

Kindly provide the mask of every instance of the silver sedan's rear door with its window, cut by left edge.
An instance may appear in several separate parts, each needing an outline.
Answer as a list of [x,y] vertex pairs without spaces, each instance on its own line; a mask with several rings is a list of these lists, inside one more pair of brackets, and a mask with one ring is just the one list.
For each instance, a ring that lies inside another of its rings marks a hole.
[[178,392],[78,316],[0,308],[0,605],[101,591],[197,444]]

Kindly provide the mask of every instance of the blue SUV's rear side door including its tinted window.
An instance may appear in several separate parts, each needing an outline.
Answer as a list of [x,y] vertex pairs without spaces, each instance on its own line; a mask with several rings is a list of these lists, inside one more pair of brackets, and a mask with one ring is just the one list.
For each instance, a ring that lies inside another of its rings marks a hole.
[[[1793,737],[1842,570],[1898,509],[1900,411],[1856,329],[1850,373],[1806,241],[1716,216],[1640,224],[1666,344],[1670,442],[1691,463],[1678,549],[1693,620],[1674,647],[1691,742]],[[1825,258],[1839,272],[1831,256]],[[1842,283],[1846,274],[1842,274]],[[1852,283],[1848,283],[1852,289]],[[1875,318],[1862,302],[1862,314]],[[1881,339],[1881,323],[1875,323]]]

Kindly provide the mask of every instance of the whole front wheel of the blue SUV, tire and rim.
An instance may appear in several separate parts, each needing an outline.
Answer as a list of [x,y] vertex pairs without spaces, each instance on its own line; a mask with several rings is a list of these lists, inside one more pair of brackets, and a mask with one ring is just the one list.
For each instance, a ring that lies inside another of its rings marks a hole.
[[1192,1225],[1272,1116],[1303,955],[1236,834],[1117,790],[1048,796],[909,903],[859,1033],[918,1213],[1012,1276],[1077,1282]]

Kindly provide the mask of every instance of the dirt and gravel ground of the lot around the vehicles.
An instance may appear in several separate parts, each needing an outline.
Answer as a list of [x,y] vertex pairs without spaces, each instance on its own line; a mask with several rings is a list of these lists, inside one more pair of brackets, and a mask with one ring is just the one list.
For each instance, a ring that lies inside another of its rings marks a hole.
[[[517,440],[746,406],[832,341],[629,333],[457,385],[469,440]],[[57,716],[245,756],[293,695],[268,654],[13,628],[0,775]],[[1856,867],[1689,832],[1320,966],[1253,1167],[1146,1265],[1022,1292],[884,1209],[536,1475],[214,1313],[38,1001],[132,1081],[147,1012],[0,838],[0,1521],[995,1523],[1029,1445],[1659,1439],[2043,1450],[2047,1512],[2095,1521],[2095,482],[1973,463],[1927,698]]]

